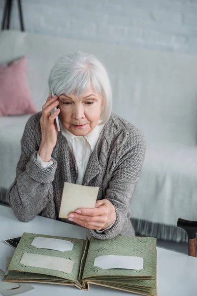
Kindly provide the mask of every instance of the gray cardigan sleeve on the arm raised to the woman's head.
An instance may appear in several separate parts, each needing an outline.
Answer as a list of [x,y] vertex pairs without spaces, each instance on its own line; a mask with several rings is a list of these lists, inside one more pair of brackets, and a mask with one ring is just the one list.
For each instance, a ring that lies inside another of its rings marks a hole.
[[[57,162],[44,168],[36,160],[39,150],[37,114],[26,123],[21,139],[21,155],[16,167],[16,177],[8,191],[8,201],[16,217],[28,222],[38,215],[46,206],[49,196],[53,198],[53,186]],[[54,219],[54,213],[51,218]]]

